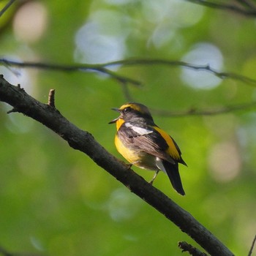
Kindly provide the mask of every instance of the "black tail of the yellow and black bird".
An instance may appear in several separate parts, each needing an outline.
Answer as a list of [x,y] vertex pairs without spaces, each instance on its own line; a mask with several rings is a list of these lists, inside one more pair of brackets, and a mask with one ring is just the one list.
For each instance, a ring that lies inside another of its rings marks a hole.
[[181,176],[178,173],[178,162],[173,164],[171,162],[163,160],[162,164],[165,167],[165,171],[167,173],[167,176],[170,178],[170,182],[173,185],[173,188],[178,192],[178,194],[185,195],[181,183]]

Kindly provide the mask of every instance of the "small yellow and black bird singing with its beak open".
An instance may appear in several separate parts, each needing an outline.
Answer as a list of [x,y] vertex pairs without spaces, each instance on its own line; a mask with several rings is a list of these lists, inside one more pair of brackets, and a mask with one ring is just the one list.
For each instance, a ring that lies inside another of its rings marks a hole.
[[185,195],[178,173],[178,163],[186,165],[177,143],[160,129],[145,105],[129,102],[120,108],[112,108],[120,116],[109,124],[116,123],[115,144],[118,152],[132,165],[156,173],[150,181],[153,184],[159,170],[167,173],[173,188]]

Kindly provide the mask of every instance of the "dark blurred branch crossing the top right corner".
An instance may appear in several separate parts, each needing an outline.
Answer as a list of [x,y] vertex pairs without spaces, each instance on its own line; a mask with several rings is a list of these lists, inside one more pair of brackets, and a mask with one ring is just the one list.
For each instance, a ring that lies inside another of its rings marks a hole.
[[216,3],[213,1],[206,1],[206,0],[186,0],[186,1],[190,1],[194,4],[200,4],[203,5],[205,7],[211,7],[211,8],[215,8],[215,9],[220,9],[220,10],[230,10],[232,12],[237,12],[241,15],[246,15],[246,16],[256,16],[256,10],[255,9],[244,9],[241,7],[238,7],[236,5],[233,4],[222,4],[220,3]]

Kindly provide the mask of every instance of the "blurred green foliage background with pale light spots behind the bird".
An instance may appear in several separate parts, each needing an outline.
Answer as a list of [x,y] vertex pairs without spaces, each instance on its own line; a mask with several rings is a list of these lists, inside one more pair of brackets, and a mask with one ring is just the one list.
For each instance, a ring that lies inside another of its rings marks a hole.
[[[8,11],[0,18],[10,18],[0,31],[0,54],[7,59],[59,64],[185,59],[256,78],[255,19],[227,10],[181,0],[44,0],[19,3],[13,15]],[[256,95],[246,83],[203,71],[187,74],[181,67],[113,70],[140,80],[143,87],[129,86],[129,93],[153,109],[211,109],[251,102]],[[56,89],[61,113],[121,158],[113,145],[115,127],[108,125],[116,117],[110,108],[127,102],[121,84],[95,72],[12,67],[0,67],[0,72],[42,102],[47,102],[49,89]],[[10,106],[0,107],[0,244],[5,249],[128,256],[181,255],[178,241],[197,246],[89,157],[26,116],[7,115]],[[256,232],[254,109],[154,117],[176,139],[189,166],[180,168],[185,197],[173,191],[163,173],[154,186],[235,255],[246,255]],[[134,170],[148,181],[153,176]]]

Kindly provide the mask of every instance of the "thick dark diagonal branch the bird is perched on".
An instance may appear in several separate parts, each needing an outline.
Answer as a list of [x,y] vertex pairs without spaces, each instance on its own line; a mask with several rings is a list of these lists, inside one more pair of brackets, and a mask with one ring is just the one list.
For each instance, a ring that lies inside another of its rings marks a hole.
[[[191,236],[210,255],[231,256],[227,247],[222,244],[206,227],[203,227],[187,211],[178,206],[159,189],[152,187],[137,173],[133,172],[124,162],[119,161],[108,153],[93,136],[70,123],[61,115],[54,105],[43,104],[26,94],[20,86],[12,86],[3,76],[0,77],[0,101],[7,102],[13,107],[10,112],[23,113],[41,124],[69,143],[69,146],[87,154],[97,165],[108,171],[131,192],[156,208],[167,219],[177,225],[181,231]],[[53,99],[51,99],[53,102]]]

